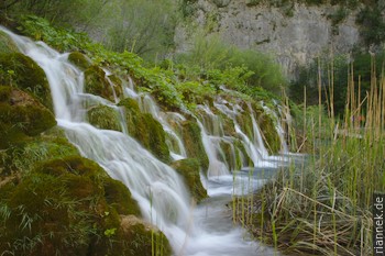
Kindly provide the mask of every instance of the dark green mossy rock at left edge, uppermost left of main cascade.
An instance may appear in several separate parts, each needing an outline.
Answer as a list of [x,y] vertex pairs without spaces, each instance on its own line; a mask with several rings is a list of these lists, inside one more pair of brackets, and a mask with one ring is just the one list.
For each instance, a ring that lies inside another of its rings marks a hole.
[[50,85],[44,70],[21,53],[0,54],[0,85],[18,87],[53,110]]

